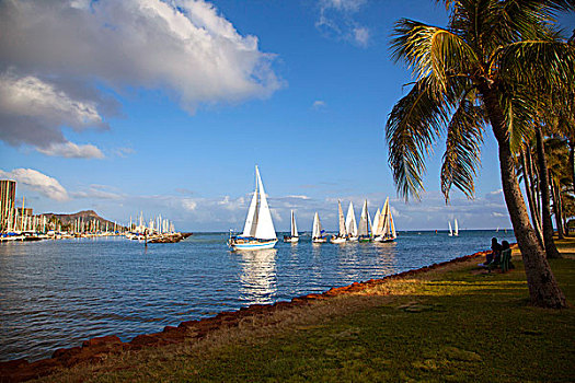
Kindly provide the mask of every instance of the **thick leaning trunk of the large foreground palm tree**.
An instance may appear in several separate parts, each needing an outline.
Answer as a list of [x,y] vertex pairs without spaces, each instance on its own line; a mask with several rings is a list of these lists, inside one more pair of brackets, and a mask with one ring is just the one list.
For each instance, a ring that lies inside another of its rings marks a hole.
[[529,223],[527,207],[515,174],[509,134],[505,125],[498,95],[495,88],[491,88],[487,82],[481,83],[479,90],[498,143],[503,193],[514,227],[515,237],[521,251],[531,303],[541,307],[566,307],[565,295],[551,271],[549,262],[545,258],[545,251],[537,240],[536,232]]

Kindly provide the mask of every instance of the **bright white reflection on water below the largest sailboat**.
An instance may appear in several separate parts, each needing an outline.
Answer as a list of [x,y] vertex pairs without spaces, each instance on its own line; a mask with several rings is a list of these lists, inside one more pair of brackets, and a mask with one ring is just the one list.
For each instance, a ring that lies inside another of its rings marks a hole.
[[241,255],[241,301],[248,303],[273,303],[277,291],[276,248],[237,251]]

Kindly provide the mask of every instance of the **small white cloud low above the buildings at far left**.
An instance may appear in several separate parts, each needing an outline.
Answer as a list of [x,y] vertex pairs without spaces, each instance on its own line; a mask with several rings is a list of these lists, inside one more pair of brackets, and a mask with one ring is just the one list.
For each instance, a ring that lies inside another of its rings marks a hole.
[[58,201],[69,199],[68,192],[66,192],[56,178],[49,177],[33,169],[14,169],[11,172],[0,170],[0,177],[15,179],[18,184],[50,199]]

